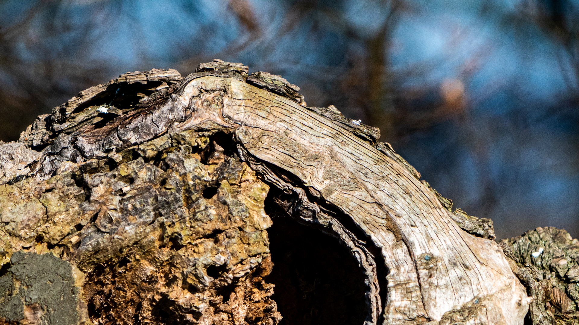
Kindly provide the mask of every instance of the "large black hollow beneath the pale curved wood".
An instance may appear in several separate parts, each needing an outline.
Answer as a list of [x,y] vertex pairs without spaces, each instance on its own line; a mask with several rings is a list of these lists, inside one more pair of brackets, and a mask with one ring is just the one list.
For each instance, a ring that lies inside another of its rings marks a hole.
[[281,215],[267,232],[280,325],[364,323],[364,275],[338,239]]

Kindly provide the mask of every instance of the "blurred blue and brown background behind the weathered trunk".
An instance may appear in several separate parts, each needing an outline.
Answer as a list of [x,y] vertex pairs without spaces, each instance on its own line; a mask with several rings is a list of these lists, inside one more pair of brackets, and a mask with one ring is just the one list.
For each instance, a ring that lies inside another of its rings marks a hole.
[[379,127],[497,238],[579,237],[577,0],[0,0],[0,140],[121,73],[212,58]]

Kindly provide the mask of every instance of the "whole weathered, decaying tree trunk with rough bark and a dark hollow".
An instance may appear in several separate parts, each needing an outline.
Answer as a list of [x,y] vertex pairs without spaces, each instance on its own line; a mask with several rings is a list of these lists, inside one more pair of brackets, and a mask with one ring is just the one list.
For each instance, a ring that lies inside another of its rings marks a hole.
[[126,73],[1,144],[2,322],[576,324],[576,239],[494,242],[298,91],[221,60]]

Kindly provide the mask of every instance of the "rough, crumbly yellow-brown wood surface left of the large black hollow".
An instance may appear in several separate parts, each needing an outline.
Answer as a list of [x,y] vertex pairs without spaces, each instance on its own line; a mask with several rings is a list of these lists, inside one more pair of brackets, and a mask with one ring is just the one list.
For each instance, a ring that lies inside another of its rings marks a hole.
[[[2,316],[27,324],[74,324],[82,314],[94,324],[277,323],[273,285],[263,281],[272,265],[264,231],[271,220],[263,211],[269,187],[237,156],[193,132],[141,148],[155,156],[135,148],[68,165],[47,180],[2,186],[5,260],[20,253],[0,278],[10,287],[4,310],[12,312]],[[33,261],[27,274],[18,271],[18,258],[52,256],[47,252],[78,268],[83,281],[76,296],[56,305],[43,302],[54,294],[44,290],[23,304],[19,297],[28,291],[12,291],[44,266]],[[42,306],[32,318],[30,303]]]

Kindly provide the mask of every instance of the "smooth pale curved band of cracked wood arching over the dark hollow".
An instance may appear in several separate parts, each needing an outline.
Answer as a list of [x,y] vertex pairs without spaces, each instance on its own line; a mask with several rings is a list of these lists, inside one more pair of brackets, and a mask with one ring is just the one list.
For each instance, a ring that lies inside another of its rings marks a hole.
[[204,110],[201,97],[177,128],[217,115],[215,123],[236,129],[243,150],[297,176],[382,249],[390,270],[384,322],[440,320],[475,301],[482,307],[471,317],[522,321],[530,301],[499,246],[460,230],[452,212],[407,169],[290,99],[236,79],[203,77],[192,80],[180,100],[190,101],[199,89],[222,94],[222,112]]

